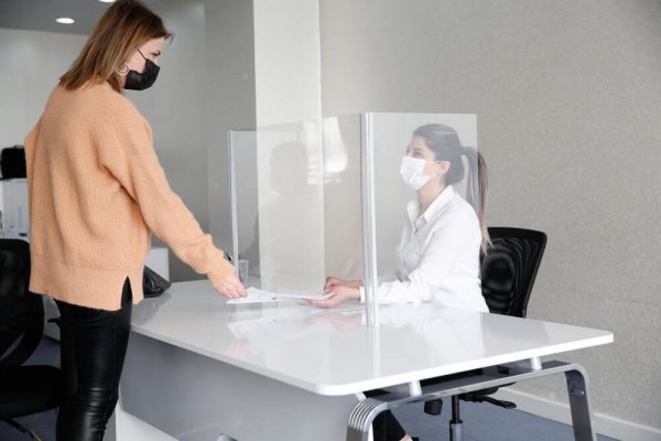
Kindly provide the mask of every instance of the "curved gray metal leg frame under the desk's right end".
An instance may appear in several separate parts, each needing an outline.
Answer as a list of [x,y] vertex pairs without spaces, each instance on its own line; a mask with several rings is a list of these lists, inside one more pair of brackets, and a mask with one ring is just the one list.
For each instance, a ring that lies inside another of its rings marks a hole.
[[369,429],[377,416],[386,410],[411,402],[446,398],[475,390],[500,387],[550,375],[564,374],[567,380],[574,439],[576,441],[596,441],[592,426],[592,411],[587,399],[587,373],[583,366],[564,362],[546,362],[541,368],[494,369],[489,373],[453,378],[422,388],[418,396],[387,394],[378,398],[360,401],[349,415],[346,441],[368,441]]

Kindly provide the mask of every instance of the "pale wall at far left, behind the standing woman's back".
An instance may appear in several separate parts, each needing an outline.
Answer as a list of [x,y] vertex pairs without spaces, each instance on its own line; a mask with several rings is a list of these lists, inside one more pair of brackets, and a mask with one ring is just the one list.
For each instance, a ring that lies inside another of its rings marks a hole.
[[0,29],[0,148],[23,144],[87,39]]

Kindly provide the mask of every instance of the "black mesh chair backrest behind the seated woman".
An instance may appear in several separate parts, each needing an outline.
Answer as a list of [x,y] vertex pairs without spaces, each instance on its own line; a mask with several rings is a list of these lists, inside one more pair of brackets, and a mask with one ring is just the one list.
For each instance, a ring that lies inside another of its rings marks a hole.
[[481,261],[481,291],[489,311],[524,318],[546,235],[523,228],[489,227],[494,244]]

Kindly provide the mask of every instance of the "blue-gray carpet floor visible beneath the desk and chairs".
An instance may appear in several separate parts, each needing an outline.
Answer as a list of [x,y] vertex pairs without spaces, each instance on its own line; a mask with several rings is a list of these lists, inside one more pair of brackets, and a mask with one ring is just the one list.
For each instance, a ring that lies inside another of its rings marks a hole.
[[[44,337],[28,364],[58,364],[58,344]],[[413,404],[394,410],[402,426],[421,441],[449,440],[449,400],[440,416],[423,412],[422,404]],[[19,421],[34,430],[43,441],[55,441],[56,410],[20,418]],[[539,418],[519,410],[506,410],[489,404],[462,402],[465,441],[570,441],[572,428],[556,421]],[[617,441],[598,435],[598,441]],[[1,441],[25,441],[30,438],[0,421]],[[132,440],[131,440],[132,441]],[[141,440],[136,440],[141,441]],[[274,440],[278,441],[278,440]]]

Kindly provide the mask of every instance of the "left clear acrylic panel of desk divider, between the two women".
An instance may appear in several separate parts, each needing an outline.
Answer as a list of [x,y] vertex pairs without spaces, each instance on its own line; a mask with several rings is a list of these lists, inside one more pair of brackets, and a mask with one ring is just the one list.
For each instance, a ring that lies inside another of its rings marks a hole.
[[357,121],[230,132],[235,259],[247,286],[315,294],[327,275],[361,277]]

